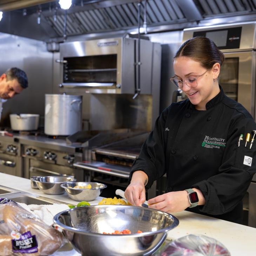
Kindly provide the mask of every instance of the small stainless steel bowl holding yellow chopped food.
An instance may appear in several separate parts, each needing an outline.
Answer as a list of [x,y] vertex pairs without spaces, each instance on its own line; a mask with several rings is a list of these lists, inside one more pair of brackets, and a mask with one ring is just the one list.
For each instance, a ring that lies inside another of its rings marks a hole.
[[[74,188],[75,186],[91,185],[90,189]],[[107,187],[105,184],[97,182],[67,182],[60,185],[65,189],[68,196],[75,201],[93,201],[102,190]]]

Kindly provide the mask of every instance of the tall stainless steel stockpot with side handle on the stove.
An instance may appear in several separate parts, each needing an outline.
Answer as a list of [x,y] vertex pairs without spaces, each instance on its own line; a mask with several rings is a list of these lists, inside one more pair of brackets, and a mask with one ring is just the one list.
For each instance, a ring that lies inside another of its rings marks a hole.
[[82,96],[45,95],[45,134],[71,135],[82,128]]

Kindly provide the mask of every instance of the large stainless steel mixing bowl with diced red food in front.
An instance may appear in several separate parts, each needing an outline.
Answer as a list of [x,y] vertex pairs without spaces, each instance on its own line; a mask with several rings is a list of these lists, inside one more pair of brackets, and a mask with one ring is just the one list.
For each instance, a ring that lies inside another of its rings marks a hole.
[[[175,228],[176,217],[155,209],[98,205],[62,211],[53,218],[73,247],[86,256],[151,255]],[[129,229],[130,235],[108,235]],[[143,233],[137,234],[137,230]]]

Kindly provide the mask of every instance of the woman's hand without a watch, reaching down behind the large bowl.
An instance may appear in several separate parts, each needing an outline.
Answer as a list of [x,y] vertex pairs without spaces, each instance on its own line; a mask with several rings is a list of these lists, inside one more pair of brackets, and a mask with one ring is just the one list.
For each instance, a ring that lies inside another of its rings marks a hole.
[[143,171],[135,171],[129,186],[124,192],[127,201],[134,206],[141,206],[146,201],[145,185],[148,182],[148,176]]

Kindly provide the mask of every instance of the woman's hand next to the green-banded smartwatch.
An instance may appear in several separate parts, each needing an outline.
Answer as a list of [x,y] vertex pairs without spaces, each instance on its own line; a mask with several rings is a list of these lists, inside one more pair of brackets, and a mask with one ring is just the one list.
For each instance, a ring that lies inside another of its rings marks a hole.
[[156,196],[148,200],[149,208],[165,211],[167,213],[177,213],[190,206],[187,191],[174,191]]

